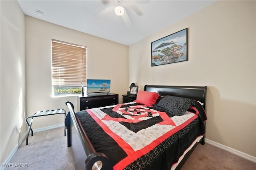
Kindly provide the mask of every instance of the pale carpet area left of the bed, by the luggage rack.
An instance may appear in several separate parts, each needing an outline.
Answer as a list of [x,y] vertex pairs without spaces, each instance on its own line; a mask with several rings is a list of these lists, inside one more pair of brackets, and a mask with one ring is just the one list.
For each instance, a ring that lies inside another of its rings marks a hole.
[[[71,148],[67,147],[64,127],[34,133],[22,142],[5,170],[74,170]],[[27,165],[27,167],[26,167]]]

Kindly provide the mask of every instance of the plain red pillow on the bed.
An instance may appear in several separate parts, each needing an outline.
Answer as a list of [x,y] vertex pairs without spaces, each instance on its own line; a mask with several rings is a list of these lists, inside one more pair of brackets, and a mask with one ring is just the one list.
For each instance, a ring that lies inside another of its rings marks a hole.
[[159,94],[156,92],[146,92],[139,90],[137,93],[137,98],[134,102],[144,104],[147,106],[152,106],[152,104],[156,103],[156,100],[158,99]]

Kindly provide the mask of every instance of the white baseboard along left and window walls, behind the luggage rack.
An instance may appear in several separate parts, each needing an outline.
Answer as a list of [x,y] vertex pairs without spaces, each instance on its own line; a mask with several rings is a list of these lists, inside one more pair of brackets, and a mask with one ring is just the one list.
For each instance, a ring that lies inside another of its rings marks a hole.
[[[46,131],[46,130],[55,129],[55,128],[58,128],[58,127],[64,127],[64,123],[59,124],[59,125],[53,125],[53,126],[43,127],[43,128],[39,128],[39,129],[34,129],[33,132],[35,133],[35,132],[40,132],[40,131]],[[8,164],[10,162],[10,160],[12,159],[12,156],[14,156],[14,154],[18,150],[18,147],[21,145],[21,143],[25,139],[27,133],[28,133],[28,131],[26,131],[26,133],[23,135],[23,137],[20,139],[18,144],[14,147],[14,149],[12,150],[10,155],[6,158],[6,160],[2,164]],[[1,164],[0,170],[4,170],[5,169],[5,166],[2,167],[2,164]]]

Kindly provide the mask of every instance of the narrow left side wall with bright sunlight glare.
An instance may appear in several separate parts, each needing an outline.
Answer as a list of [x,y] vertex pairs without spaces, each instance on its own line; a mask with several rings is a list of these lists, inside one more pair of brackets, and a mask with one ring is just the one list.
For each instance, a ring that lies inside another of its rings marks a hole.
[[0,1],[0,161],[3,163],[26,132],[25,24],[17,1]]

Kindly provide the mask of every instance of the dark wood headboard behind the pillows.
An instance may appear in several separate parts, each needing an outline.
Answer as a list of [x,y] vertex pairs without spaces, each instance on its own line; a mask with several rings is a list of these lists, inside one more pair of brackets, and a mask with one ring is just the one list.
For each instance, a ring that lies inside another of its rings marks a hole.
[[157,92],[160,96],[178,96],[202,102],[206,110],[207,86],[157,86],[145,85],[144,91]]

